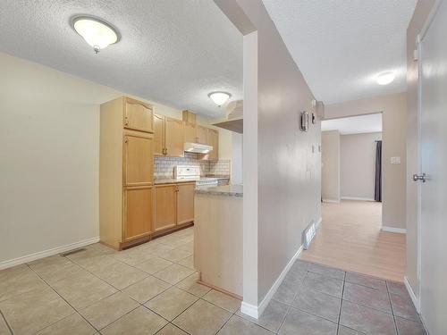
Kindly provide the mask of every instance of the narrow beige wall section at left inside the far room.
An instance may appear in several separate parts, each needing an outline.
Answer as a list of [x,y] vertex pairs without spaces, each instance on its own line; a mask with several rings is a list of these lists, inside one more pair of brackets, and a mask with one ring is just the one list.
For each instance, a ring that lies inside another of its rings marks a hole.
[[323,201],[340,202],[340,132],[321,133],[321,197]]

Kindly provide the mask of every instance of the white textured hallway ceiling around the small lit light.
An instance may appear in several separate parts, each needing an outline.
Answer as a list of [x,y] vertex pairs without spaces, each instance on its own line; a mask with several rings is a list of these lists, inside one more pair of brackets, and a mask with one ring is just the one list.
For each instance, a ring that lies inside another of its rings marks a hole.
[[[332,104],[406,90],[406,31],[417,0],[263,0],[308,86]],[[396,71],[388,86],[375,76]]]

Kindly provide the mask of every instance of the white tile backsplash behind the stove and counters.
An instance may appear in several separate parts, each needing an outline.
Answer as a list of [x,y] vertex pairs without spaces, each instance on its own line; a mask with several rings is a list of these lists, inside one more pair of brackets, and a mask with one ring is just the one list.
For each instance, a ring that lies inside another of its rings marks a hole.
[[196,154],[185,153],[184,157],[164,157],[154,158],[154,177],[156,179],[173,178],[173,167],[175,165],[198,165],[200,174],[207,175],[230,175],[230,160],[201,161]]

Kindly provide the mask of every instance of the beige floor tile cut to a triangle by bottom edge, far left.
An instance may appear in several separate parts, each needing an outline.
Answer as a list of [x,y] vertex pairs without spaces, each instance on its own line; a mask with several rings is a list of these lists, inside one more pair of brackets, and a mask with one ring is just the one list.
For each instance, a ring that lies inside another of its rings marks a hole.
[[97,331],[80,314],[72,314],[39,331],[37,335],[93,335]]

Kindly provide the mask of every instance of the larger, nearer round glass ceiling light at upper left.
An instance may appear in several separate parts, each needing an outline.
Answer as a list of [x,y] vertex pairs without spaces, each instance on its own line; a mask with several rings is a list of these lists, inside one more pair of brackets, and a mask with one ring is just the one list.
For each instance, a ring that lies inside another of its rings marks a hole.
[[95,54],[120,40],[118,31],[112,25],[93,16],[76,16],[72,19],[72,26],[93,47]]

